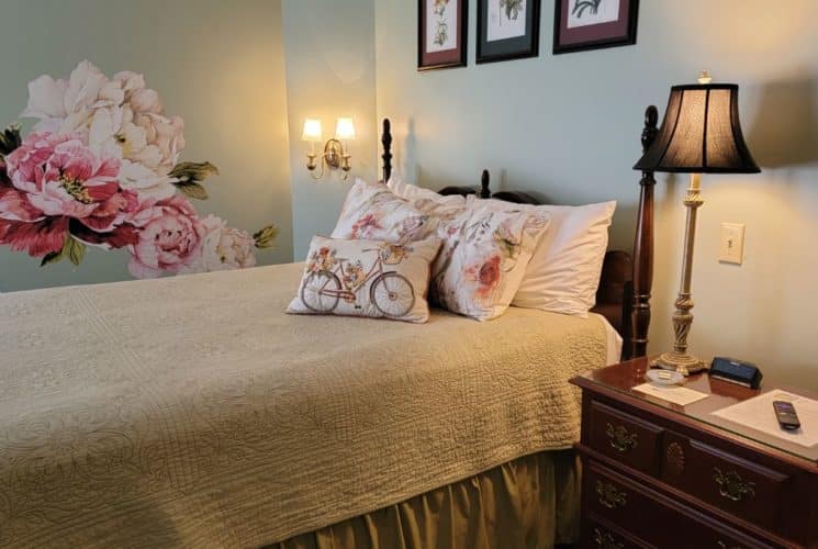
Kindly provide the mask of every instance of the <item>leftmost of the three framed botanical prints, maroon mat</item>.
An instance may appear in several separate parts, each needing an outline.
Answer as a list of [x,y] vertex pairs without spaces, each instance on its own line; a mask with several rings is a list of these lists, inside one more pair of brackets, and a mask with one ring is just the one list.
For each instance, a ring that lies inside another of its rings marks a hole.
[[417,12],[417,70],[464,67],[468,0],[418,0]]

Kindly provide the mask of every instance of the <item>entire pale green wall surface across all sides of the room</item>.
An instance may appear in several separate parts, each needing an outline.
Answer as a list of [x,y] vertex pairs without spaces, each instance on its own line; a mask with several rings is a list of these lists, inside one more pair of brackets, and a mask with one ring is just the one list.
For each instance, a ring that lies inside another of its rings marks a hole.
[[[354,173],[376,177],[378,123],[390,116],[410,180],[473,184],[488,167],[496,188],[553,202],[617,199],[613,245],[630,248],[641,113],[663,109],[672,83],[707,68],[741,85],[744,131],[764,172],[705,179],[693,350],[755,360],[769,378],[818,389],[818,3],[645,1],[636,46],[552,56],[553,3],[544,0],[540,57],[483,66],[470,12],[469,67],[418,74],[416,3],[405,0],[284,0],[281,9],[269,0],[4,0],[0,121],[23,109],[29,80],[67,75],[86,57],[107,72],[145,72],[186,120],[186,157],[222,168],[202,213],[284,229],[261,261],[290,260],[291,243],[300,260],[312,235],[332,231],[350,183],[310,179],[301,125],[321,117],[330,133],[345,114],[358,127]],[[658,186],[652,351],[671,341],[684,183],[660,177]],[[747,223],[742,267],[716,260],[722,221]],[[41,270],[0,249],[0,291],[130,278],[125,255],[113,256]]]

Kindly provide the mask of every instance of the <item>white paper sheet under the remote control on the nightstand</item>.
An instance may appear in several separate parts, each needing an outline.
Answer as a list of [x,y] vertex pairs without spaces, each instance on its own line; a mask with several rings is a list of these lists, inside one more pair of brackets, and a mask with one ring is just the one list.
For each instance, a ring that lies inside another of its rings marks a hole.
[[[800,429],[784,430],[778,425],[773,401],[792,402],[798,414]],[[713,415],[751,427],[767,435],[806,448],[818,446],[818,401],[782,390],[771,391],[739,404],[713,412]]]

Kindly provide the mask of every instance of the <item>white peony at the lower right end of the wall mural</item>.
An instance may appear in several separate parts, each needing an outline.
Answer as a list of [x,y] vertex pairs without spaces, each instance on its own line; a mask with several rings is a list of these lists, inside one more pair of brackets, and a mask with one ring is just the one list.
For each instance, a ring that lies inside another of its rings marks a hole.
[[201,258],[182,272],[212,272],[256,266],[253,251],[255,243],[246,231],[228,227],[226,221],[215,215],[209,215],[202,220],[202,224],[208,233],[202,239]]

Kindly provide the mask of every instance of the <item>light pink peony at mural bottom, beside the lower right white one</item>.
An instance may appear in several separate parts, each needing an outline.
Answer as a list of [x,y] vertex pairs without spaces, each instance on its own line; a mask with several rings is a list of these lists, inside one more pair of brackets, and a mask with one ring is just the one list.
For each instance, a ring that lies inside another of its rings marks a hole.
[[130,247],[128,270],[136,278],[178,273],[195,265],[202,254],[208,228],[195,210],[179,195],[146,203],[132,217],[139,239]]

